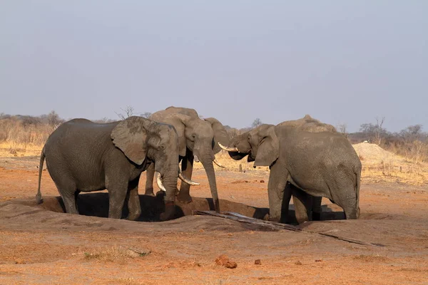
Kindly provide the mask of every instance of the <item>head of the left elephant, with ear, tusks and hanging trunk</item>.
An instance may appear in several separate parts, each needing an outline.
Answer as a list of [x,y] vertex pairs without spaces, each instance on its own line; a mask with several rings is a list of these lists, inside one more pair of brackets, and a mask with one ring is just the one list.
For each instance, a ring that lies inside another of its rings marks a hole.
[[178,135],[172,125],[132,116],[122,120],[111,132],[116,145],[136,165],[155,162],[158,187],[166,192],[165,213],[161,219],[173,217],[177,178],[195,183],[181,175],[178,167]]

